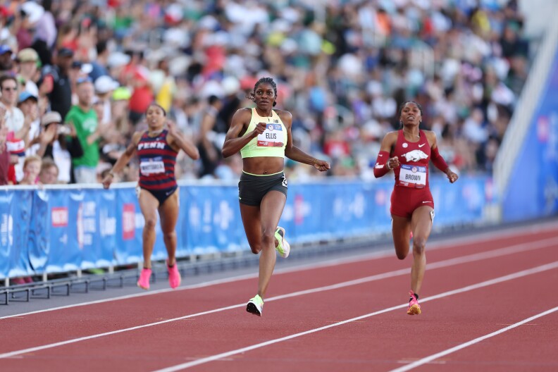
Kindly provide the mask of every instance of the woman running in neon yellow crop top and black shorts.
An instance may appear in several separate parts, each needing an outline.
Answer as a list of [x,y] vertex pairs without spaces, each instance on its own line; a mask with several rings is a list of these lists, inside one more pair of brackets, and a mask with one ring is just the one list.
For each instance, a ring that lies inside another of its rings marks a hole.
[[287,179],[283,174],[285,156],[299,163],[327,171],[327,161],[315,159],[292,145],[292,115],[273,110],[277,86],[271,77],[262,77],[251,94],[254,109],[238,110],[233,116],[223,144],[223,157],[240,152],[242,175],[238,184],[240,215],[254,254],[261,252],[258,294],[249,300],[247,311],[261,316],[263,297],[275,267],[275,249],[283,257],[289,253],[285,229],[277,224],[287,201]]

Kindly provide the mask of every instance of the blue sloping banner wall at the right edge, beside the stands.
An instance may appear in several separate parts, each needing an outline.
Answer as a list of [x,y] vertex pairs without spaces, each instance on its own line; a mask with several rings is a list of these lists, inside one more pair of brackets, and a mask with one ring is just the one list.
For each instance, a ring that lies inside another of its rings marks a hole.
[[502,201],[504,221],[558,213],[558,52]]

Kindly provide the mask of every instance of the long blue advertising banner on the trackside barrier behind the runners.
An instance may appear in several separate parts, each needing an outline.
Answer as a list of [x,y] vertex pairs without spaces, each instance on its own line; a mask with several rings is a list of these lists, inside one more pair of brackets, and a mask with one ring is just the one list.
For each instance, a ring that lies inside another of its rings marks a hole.
[[[388,233],[393,180],[289,184],[280,225],[292,244]],[[435,228],[481,223],[492,180],[430,179]],[[249,250],[235,184],[180,183],[177,256]],[[159,221],[152,259],[166,259]],[[0,190],[0,278],[136,264],[145,225],[135,188]]]

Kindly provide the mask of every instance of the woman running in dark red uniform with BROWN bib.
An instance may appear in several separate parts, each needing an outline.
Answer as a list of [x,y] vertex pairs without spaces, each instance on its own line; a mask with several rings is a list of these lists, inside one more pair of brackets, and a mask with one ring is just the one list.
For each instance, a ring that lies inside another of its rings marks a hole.
[[406,102],[399,110],[402,129],[389,132],[382,140],[374,175],[378,178],[393,170],[395,186],[391,197],[392,235],[398,259],[409,254],[409,235],[413,237],[411,291],[407,314],[421,314],[419,290],[426,268],[426,241],[434,220],[434,200],[428,187],[430,159],[450,182],[458,178],[438,152],[436,135],[419,130],[422,109],[416,102]]

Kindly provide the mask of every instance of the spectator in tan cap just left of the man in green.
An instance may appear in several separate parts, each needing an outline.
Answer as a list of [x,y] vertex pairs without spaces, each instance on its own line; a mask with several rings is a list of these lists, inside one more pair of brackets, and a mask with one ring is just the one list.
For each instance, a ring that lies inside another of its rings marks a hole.
[[39,144],[37,156],[50,158],[56,164],[58,182],[70,182],[72,159],[83,156],[73,125],[63,124],[62,116],[56,111],[45,113],[41,118],[41,133],[35,141]]

